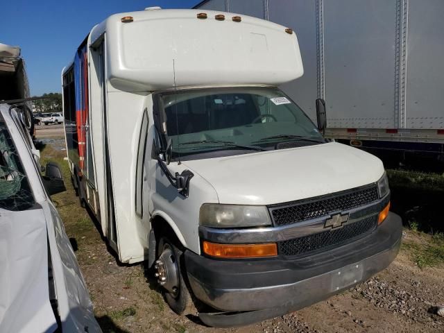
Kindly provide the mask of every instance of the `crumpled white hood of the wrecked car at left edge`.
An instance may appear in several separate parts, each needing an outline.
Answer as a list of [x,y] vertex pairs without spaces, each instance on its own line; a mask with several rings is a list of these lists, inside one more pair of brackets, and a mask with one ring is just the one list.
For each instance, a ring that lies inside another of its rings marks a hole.
[[0,209],[0,253],[0,332],[56,330],[42,209]]

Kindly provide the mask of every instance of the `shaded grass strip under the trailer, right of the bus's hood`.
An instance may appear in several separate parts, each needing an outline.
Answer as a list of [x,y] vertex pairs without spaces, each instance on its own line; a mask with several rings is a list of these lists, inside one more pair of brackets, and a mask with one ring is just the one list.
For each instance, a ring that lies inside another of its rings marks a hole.
[[444,191],[444,174],[392,169],[387,176],[391,187]]

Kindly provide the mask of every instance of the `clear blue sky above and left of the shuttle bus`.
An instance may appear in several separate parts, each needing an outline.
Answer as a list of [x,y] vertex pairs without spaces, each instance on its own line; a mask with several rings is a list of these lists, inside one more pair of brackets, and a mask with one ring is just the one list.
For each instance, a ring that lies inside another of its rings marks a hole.
[[115,12],[191,8],[199,0],[1,1],[0,43],[19,45],[31,95],[61,92],[60,73],[91,28]]

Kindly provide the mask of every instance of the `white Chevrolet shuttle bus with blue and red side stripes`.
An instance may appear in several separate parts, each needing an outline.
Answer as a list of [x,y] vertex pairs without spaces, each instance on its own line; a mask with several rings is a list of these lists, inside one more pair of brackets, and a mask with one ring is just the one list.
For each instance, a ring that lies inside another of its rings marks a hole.
[[328,142],[277,88],[302,73],[285,26],[159,9],[112,15],[63,69],[80,201],[121,262],[147,260],[176,313],[193,299],[211,326],[280,316],[397,255],[382,162]]

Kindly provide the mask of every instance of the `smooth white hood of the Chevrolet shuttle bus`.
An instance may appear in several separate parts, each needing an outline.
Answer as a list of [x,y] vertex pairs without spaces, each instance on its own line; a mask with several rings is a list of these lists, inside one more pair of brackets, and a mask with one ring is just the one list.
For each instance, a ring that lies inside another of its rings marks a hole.
[[219,203],[239,205],[322,196],[368,185],[384,173],[377,157],[336,142],[183,164],[210,182]]

